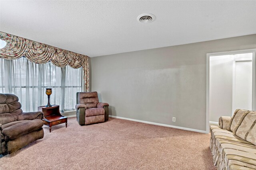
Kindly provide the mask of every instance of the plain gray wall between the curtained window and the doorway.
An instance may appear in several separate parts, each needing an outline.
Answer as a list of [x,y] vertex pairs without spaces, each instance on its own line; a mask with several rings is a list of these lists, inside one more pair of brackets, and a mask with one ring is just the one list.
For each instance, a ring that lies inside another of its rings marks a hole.
[[91,90],[110,115],[206,131],[206,53],[252,48],[256,34],[93,57]]

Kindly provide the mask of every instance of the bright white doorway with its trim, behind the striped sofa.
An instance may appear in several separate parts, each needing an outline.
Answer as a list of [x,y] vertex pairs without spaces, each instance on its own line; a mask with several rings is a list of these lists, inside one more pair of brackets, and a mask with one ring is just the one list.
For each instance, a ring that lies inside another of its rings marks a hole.
[[209,121],[232,116],[236,109],[255,110],[256,49],[207,54],[206,129]]

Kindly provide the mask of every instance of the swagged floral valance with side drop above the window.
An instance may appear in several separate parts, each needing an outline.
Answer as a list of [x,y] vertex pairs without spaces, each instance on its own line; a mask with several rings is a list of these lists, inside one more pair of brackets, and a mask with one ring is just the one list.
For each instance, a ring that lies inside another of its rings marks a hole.
[[64,67],[66,65],[69,65],[72,68],[82,67],[84,71],[84,83],[86,86],[86,91],[88,92],[88,56],[31,41],[29,39],[7,34],[1,31],[0,39],[6,41],[6,46],[0,49],[0,58],[13,60],[24,56],[29,61],[36,64],[44,64],[50,61],[52,64],[58,67]]

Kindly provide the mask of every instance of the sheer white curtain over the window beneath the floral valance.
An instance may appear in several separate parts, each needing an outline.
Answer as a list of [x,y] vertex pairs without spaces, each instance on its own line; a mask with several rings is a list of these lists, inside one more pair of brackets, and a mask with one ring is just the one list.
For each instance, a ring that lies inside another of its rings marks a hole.
[[52,88],[51,105],[60,105],[62,112],[74,110],[76,92],[82,91],[82,68],[35,64],[25,57],[0,59],[0,93],[18,96],[23,111],[37,111],[48,103],[45,88]]

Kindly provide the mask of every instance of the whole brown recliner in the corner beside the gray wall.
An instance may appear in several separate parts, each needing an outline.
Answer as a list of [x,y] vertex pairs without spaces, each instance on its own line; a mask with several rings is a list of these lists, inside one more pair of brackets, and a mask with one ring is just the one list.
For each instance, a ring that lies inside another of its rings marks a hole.
[[100,103],[97,92],[76,93],[76,119],[79,125],[108,121],[108,104]]

